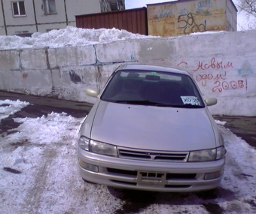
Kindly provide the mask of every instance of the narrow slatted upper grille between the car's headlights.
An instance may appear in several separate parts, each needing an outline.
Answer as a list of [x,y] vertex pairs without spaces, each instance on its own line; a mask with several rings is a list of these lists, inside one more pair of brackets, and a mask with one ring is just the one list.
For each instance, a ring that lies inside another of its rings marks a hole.
[[148,161],[187,161],[188,152],[157,152],[151,150],[118,148],[120,158],[129,158]]

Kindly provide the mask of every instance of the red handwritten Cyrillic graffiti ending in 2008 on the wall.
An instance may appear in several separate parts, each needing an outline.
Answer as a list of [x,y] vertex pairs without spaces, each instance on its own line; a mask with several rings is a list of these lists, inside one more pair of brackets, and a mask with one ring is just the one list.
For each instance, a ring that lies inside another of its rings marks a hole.
[[[187,65],[187,62],[178,63],[178,66],[182,65]],[[198,61],[194,69],[190,70],[190,75],[200,86],[210,87],[212,92],[224,92],[231,89],[245,89],[247,91],[246,78],[227,76],[227,70],[232,69],[233,62],[218,61],[212,57],[209,62]]]

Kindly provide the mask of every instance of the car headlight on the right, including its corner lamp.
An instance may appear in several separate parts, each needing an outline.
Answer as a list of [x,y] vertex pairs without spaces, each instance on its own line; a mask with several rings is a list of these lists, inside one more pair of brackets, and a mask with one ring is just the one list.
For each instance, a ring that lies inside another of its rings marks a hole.
[[220,146],[215,149],[204,149],[199,151],[190,152],[187,161],[190,162],[203,162],[203,161],[215,161],[224,158],[226,149],[224,146]]

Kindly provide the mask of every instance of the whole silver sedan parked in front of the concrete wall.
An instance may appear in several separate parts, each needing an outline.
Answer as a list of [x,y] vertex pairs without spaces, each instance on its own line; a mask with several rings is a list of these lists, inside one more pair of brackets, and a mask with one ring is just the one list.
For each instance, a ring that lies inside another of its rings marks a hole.
[[218,187],[224,141],[186,71],[121,65],[97,97],[78,136],[83,179],[146,191],[203,191]]

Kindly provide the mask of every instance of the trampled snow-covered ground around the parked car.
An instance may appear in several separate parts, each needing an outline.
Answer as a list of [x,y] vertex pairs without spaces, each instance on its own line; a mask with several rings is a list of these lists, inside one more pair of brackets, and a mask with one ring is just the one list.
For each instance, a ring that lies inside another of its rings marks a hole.
[[[0,101],[0,119],[29,105]],[[227,149],[221,186],[202,193],[125,191],[84,182],[76,140],[83,118],[15,118],[0,135],[0,213],[256,213],[256,150],[218,122]]]

